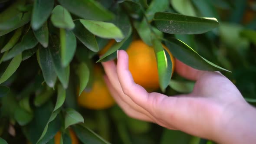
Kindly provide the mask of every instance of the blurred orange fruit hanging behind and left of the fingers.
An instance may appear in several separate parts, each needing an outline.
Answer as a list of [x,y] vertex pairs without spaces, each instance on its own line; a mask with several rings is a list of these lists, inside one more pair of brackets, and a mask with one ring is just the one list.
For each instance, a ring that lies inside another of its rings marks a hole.
[[80,106],[89,109],[100,110],[109,108],[115,104],[115,101],[110,95],[102,75],[103,74],[101,70],[98,67],[95,67],[95,78],[91,91],[83,91],[81,95],[77,98],[78,104]]

